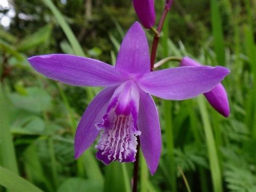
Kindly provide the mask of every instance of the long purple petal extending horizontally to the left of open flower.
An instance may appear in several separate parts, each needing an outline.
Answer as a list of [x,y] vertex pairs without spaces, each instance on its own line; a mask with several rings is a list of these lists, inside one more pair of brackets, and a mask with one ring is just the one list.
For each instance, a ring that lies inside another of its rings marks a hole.
[[113,66],[91,58],[50,54],[33,56],[28,61],[37,72],[73,86],[115,86],[123,81]]

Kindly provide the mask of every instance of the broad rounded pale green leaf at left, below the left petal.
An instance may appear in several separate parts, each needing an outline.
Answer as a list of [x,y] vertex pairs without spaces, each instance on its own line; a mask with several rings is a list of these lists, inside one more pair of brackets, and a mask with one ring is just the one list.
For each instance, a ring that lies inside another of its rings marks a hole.
[[8,98],[16,108],[24,109],[30,112],[41,112],[47,110],[51,103],[51,97],[42,89],[36,87],[27,88],[27,96],[17,93],[10,93]]

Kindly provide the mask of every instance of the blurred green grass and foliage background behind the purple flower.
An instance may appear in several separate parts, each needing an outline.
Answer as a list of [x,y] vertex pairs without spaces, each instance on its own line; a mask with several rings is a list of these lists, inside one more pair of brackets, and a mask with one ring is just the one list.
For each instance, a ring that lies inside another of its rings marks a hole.
[[[0,13],[2,19],[10,10],[15,12],[0,33],[0,190],[131,191],[132,163],[105,166],[96,160],[94,146],[74,160],[76,125],[100,88],[47,79],[26,60],[69,53],[114,65],[122,37],[138,19],[131,1],[8,3]],[[163,5],[163,0],[155,1],[156,25]],[[153,177],[140,156],[139,191],[256,191],[254,10],[255,0],[174,1],[157,61],[190,56],[204,65],[229,68],[222,83],[230,116],[222,117],[203,96],[184,101],[154,98],[162,154]],[[145,32],[151,46],[152,33]]]

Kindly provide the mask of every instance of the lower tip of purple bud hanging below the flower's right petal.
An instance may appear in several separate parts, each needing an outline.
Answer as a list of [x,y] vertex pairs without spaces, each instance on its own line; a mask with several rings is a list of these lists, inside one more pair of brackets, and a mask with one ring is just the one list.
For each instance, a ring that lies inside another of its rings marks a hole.
[[221,83],[211,91],[204,93],[211,106],[224,117],[229,116],[227,92]]

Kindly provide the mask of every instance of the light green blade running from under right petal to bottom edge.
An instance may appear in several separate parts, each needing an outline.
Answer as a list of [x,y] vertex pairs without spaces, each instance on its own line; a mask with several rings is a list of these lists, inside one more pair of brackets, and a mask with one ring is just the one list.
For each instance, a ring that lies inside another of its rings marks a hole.
[[199,95],[197,97],[197,100],[199,104],[201,117],[203,120],[203,129],[205,133],[207,150],[208,150],[212,185],[214,188],[214,192],[222,192],[223,188],[222,188],[221,168],[219,164],[214,134],[212,133],[209,115],[206,109],[203,95]]

